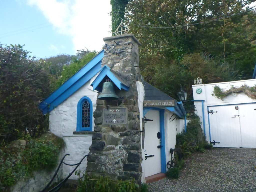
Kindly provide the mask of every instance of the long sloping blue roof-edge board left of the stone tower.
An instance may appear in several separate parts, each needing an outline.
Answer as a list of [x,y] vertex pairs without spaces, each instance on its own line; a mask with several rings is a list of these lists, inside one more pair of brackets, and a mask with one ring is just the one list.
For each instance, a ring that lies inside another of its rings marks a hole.
[[101,59],[104,56],[104,50],[101,50],[89,63],[70,77],[55,92],[39,104],[43,114],[46,114],[65,101],[70,95],[82,87],[101,69]]

